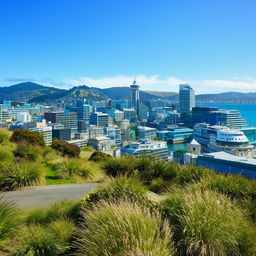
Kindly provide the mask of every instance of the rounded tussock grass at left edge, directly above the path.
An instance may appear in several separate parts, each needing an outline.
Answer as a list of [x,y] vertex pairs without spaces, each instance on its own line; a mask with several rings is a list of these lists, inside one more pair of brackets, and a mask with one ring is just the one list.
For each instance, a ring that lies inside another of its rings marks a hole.
[[2,190],[14,190],[42,183],[44,179],[42,165],[31,162],[11,163],[6,165],[0,180]]

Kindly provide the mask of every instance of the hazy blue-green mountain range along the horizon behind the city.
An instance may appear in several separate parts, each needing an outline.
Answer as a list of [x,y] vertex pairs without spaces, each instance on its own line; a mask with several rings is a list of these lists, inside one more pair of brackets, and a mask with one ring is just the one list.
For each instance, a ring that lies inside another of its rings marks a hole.
[[[161,91],[140,91],[142,101],[152,99],[168,99],[178,101],[178,93]],[[71,89],[60,89],[32,82],[24,82],[8,87],[0,87],[0,100],[17,102],[49,102],[67,98],[89,98],[92,100],[129,99],[129,87],[96,88],[86,85],[75,86]],[[256,104],[256,93],[224,92],[218,94],[196,95],[199,103],[226,104]]]

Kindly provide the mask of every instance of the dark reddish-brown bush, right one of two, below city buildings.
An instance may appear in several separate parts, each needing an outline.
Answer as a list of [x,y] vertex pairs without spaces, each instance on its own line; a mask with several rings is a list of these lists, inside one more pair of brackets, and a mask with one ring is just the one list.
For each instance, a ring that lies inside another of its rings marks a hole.
[[63,156],[68,157],[79,157],[81,151],[78,146],[57,139],[52,141],[52,148],[58,150]]

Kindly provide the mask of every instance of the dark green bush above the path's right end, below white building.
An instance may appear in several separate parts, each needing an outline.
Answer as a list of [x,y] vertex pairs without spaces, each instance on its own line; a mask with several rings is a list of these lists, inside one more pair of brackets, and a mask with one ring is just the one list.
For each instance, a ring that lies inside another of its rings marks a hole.
[[110,158],[103,165],[106,174],[112,177],[119,175],[131,176],[134,174],[135,167],[136,159],[133,157]]

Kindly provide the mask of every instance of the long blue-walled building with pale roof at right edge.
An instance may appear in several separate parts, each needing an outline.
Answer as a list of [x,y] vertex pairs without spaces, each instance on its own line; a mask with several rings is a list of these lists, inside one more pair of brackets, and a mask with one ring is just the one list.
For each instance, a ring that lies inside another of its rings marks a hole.
[[221,151],[198,156],[196,164],[226,174],[233,173],[256,179],[256,159],[253,158],[234,156]]

